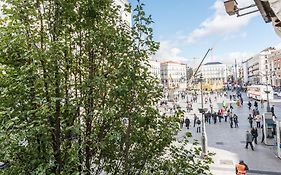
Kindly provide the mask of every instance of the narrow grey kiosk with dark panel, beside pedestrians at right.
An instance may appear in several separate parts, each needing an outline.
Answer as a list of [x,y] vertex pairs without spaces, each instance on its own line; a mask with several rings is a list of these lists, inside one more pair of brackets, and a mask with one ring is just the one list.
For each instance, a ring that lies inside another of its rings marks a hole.
[[274,130],[275,122],[272,117],[271,112],[266,112],[263,114],[263,134],[264,134],[264,144],[275,145],[274,140]]

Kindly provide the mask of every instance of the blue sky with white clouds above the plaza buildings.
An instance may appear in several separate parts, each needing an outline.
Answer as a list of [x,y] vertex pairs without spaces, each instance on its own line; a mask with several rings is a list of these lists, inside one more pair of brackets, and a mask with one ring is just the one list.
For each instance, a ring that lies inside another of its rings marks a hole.
[[[136,0],[129,0],[133,6]],[[281,48],[281,38],[259,12],[237,18],[228,16],[223,0],[141,0],[152,15],[154,38],[160,42],[155,59],[196,66],[209,48],[204,63],[234,64],[267,47]],[[237,0],[239,7],[254,0]]]

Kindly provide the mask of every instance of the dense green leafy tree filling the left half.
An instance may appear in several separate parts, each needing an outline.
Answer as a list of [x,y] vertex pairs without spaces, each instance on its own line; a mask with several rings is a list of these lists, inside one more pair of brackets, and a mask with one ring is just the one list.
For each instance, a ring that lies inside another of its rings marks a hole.
[[172,146],[181,113],[155,108],[147,60],[158,43],[143,4],[130,28],[111,0],[4,2],[1,174],[178,174],[187,159],[208,172],[200,150]]

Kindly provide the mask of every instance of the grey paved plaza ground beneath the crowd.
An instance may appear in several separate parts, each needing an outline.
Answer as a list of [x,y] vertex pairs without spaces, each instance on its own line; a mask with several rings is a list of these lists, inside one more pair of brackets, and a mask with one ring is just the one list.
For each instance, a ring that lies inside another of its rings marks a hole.
[[[250,148],[245,149],[246,130],[249,130],[250,126],[247,119],[249,114],[248,98],[245,94],[243,94],[243,98],[244,105],[241,107],[237,107],[234,101],[230,101],[225,97],[218,98],[213,102],[213,104],[220,104],[222,101],[228,104],[233,103],[233,112],[239,117],[239,128],[230,128],[229,122],[224,120],[221,123],[217,122],[217,124],[213,124],[213,121],[211,124],[206,124],[208,151],[216,153],[213,157],[214,164],[211,166],[211,170],[214,175],[235,175],[235,164],[242,159],[249,166],[249,175],[281,175],[281,160],[276,156],[276,146],[266,146],[261,143],[261,129],[259,129],[258,144],[254,145],[255,151]],[[186,103],[181,101],[180,105],[185,107]],[[275,102],[274,105],[277,117],[281,118],[281,103]],[[208,106],[209,103],[204,104],[204,108]],[[218,106],[214,105],[214,110],[217,110]],[[200,107],[201,103],[199,101],[199,103],[193,104],[192,111],[185,113],[185,116],[191,119],[189,131],[192,133],[193,139],[199,141],[201,134],[196,133],[196,128],[193,127],[193,114],[196,113],[201,118],[201,114],[198,112]],[[261,114],[265,109],[266,104],[263,109],[260,108]],[[186,131],[187,129],[184,127],[177,135],[177,138],[183,137]]]

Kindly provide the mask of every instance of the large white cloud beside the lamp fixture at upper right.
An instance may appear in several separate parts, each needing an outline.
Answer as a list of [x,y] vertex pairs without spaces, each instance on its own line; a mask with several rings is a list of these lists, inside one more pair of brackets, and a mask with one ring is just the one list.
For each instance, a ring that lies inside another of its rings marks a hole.
[[[243,7],[244,5],[249,5],[253,2],[251,0],[241,0],[241,4],[240,2],[238,3],[239,7]],[[212,8],[215,9],[215,14],[204,20],[197,29],[194,29],[187,36],[187,43],[195,43],[202,38],[212,35],[225,37],[231,33],[239,31],[242,27],[246,26],[254,16],[257,15],[252,14],[239,18],[236,16],[228,16],[225,12],[222,0],[216,0]]]

